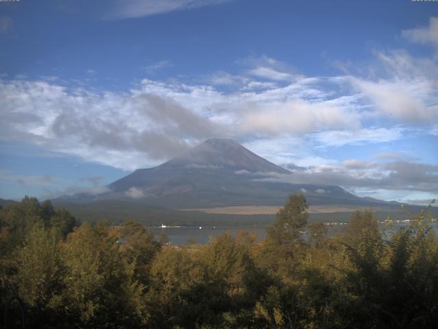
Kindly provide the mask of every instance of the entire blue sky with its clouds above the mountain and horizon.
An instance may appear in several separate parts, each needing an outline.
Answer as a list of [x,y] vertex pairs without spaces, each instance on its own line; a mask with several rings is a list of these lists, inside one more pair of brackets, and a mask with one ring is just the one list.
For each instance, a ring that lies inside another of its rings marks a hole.
[[293,182],[424,204],[438,2],[0,3],[0,115],[3,198],[99,193],[221,136]]

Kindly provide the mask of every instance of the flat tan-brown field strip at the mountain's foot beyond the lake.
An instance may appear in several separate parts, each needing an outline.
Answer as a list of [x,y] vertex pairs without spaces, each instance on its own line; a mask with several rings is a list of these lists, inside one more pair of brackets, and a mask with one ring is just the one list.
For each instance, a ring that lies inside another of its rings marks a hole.
[[[179,209],[185,211],[202,211],[208,214],[227,214],[227,215],[273,215],[283,206],[229,206],[221,208],[196,208],[196,209]],[[365,209],[365,207],[362,207]],[[354,212],[355,210],[361,210],[357,206],[310,206],[309,213],[311,214],[324,214],[331,212]]]

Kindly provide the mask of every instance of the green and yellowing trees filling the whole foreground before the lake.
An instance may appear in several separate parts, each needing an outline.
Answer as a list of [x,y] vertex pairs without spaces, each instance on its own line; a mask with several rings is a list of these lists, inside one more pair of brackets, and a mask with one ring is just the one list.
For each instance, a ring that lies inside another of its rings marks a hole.
[[135,221],[82,223],[25,197],[0,210],[2,328],[438,328],[438,238],[430,207],[379,228],[308,223],[289,196],[250,232],[167,245]]

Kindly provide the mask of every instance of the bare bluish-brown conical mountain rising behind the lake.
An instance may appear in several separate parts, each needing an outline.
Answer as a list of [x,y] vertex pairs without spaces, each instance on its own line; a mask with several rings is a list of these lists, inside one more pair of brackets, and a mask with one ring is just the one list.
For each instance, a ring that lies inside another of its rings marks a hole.
[[[108,185],[108,192],[64,198],[69,202],[117,199],[164,208],[281,206],[289,193],[304,191],[313,205],[381,206],[339,186],[290,184],[294,173],[230,139],[211,138],[168,162],[138,169]],[[274,178],[274,179],[271,179]],[[284,181],[281,182],[285,178]],[[394,206],[394,205],[393,205]]]

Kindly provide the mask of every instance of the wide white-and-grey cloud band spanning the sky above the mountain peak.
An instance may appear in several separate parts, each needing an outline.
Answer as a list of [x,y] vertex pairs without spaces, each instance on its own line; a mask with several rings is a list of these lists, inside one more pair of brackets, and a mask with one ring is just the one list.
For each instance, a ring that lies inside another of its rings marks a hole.
[[[262,56],[246,60],[239,74],[207,75],[203,84],[144,79],[125,93],[57,80],[3,79],[0,140],[133,170],[211,136],[244,141],[277,164],[318,167],[334,162],[313,148],[398,141],[412,125],[436,134],[437,64],[415,65],[402,51],[376,51],[376,58],[383,67],[380,78],[306,77]],[[248,73],[259,68],[282,75],[266,81]],[[237,88],[223,91],[216,85]]]

